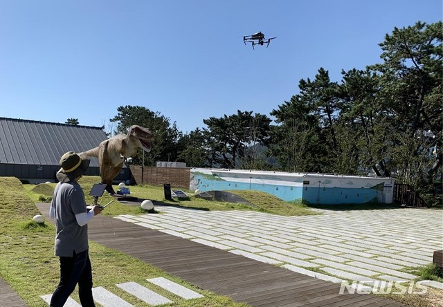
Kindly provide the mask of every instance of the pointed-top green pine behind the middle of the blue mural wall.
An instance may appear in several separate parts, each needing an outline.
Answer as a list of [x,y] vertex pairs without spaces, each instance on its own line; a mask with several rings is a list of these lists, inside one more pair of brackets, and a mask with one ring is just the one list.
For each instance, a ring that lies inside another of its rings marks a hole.
[[280,124],[271,133],[271,152],[287,171],[333,172],[343,161],[335,131],[338,85],[320,68],[314,80],[302,79],[298,88],[290,102],[271,112]]

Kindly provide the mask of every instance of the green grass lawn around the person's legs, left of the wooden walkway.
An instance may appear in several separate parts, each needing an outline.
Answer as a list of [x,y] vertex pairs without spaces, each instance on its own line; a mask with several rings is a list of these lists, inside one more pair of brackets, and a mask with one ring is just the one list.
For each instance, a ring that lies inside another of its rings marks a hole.
[[[96,178],[85,178],[82,185],[84,185],[85,190],[89,191],[95,182]],[[26,301],[26,304],[33,307],[46,307],[47,305],[40,298],[40,295],[51,294],[57,286],[59,262],[58,257],[53,254],[55,227],[47,221],[44,224],[37,224],[32,221],[33,216],[39,214],[33,199],[37,195],[42,195],[39,194],[42,192],[31,192],[32,187],[21,185],[17,178],[0,177],[0,185],[3,187],[0,189],[0,223],[2,225],[0,228],[0,275]],[[107,197],[111,196],[104,196],[104,198]],[[91,200],[92,198],[89,198],[89,201]],[[115,210],[127,212],[124,209],[138,210],[123,204],[115,206]],[[93,266],[94,285],[108,288],[112,292],[121,295],[134,306],[146,305],[136,297],[117,288],[116,283],[136,281],[141,285],[155,289],[174,301],[169,306],[247,306],[246,304],[235,303],[228,297],[201,290],[144,261],[106,248],[98,243],[90,242],[89,252]],[[200,292],[204,295],[204,298],[181,299],[170,292],[147,283],[146,279],[151,277],[171,279]],[[72,297],[78,301],[76,292]]]

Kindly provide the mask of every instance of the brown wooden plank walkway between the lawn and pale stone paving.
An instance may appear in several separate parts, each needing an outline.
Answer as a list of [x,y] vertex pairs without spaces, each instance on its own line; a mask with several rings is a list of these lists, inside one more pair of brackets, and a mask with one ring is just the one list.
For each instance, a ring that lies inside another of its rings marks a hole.
[[[47,217],[48,204],[37,206]],[[109,216],[93,218],[89,239],[251,306],[405,306],[375,295],[339,295],[336,283]]]

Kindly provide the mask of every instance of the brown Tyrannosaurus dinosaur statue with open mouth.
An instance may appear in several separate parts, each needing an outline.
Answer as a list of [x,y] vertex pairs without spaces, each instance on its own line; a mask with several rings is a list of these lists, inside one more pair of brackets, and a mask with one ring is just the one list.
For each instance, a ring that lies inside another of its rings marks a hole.
[[79,155],[98,158],[102,183],[106,183],[109,194],[115,194],[112,180],[123,168],[125,158],[134,156],[139,148],[149,152],[153,141],[154,135],[149,129],[133,125],[129,127],[127,134],[120,133],[113,136],[101,142],[98,147]]

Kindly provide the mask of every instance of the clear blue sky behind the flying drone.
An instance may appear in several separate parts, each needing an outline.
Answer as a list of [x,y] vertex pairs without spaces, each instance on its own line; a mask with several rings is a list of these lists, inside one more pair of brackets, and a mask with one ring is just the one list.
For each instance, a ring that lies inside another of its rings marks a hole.
[[[318,68],[381,62],[394,27],[442,20],[441,0],[0,0],[0,116],[105,125],[145,106],[183,133],[269,115]],[[244,46],[242,36],[277,37]]]

